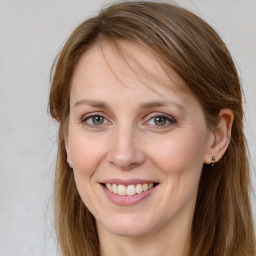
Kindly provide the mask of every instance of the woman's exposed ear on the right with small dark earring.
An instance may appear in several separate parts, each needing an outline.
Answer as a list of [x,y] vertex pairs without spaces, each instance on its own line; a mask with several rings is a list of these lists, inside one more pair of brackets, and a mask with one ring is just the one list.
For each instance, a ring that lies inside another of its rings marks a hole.
[[230,138],[234,114],[230,109],[222,109],[219,113],[218,127],[211,131],[204,162],[218,162],[226,152]]

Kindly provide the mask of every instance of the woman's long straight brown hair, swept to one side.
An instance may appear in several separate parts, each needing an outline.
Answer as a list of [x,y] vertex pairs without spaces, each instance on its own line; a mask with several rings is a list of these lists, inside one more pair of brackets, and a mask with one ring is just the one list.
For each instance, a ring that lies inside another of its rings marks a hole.
[[223,108],[234,113],[230,145],[212,170],[203,167],[191,230],[193,256],[254,256],[249,202],[249,165],[243,132],[242,93],[233,60],[220,37],[184,8],[159,2],[123,2],[103,9],[78,26],[52,69],[49,109],[59,124],[55,178],[55,224],[64,256],[99,255],[95,219],[83,204],[66,163],[64,136],[69,120],[70,84],[81,55],[107,39],[130,40],[151,48],[185,81],[218,125]]

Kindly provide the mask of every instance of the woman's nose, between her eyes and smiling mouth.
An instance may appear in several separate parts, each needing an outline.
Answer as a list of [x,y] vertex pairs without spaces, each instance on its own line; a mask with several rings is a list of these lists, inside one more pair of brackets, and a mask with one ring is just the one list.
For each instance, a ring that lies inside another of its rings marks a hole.
[[112,137],[107,160],[110,164],[130,170],[145,162],[145,153],[132,129],[117,129]]

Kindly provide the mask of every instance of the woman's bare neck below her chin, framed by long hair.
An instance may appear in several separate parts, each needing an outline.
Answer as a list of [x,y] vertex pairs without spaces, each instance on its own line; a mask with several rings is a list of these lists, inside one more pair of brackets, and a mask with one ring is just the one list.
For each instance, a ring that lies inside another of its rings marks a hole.
[[191,225],[175,225],[140,237],[109,235],[99,229],[101,256],[188,256]]

